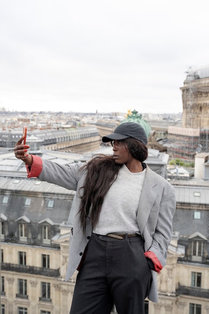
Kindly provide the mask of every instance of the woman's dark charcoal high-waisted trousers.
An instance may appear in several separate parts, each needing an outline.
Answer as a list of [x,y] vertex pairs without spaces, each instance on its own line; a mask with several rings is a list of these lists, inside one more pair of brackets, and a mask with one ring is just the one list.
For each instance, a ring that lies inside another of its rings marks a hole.
[[70,314],[143,314],[151,284],[141,236],[92,234],[78,273]]

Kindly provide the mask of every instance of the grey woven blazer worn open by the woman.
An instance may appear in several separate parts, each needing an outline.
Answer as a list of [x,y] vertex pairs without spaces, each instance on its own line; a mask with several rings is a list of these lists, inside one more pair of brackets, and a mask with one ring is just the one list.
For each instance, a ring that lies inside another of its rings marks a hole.
[[[43,170],[40,180],[54,183],[76,193],[76,214],[73,224],[73,236],[70,236],[69,261],[66,273],[66,281],[77,269],[85,247],[91,237],[92,228],[87,218],[86,234],[82,232],[79,223],[80,194],[79,189],[84,185],[86,173],[79,171],[83,166],[80,164],[59,165],[50,161],[43,161]],[[144,239],[145,251],[152,251],[165,265],[167,249],[171,240],[172,218],[175,212],[174,188],[160,175],[153,172],[148,166],[141,191],[137,223]],[[148,298],[158,301],[156,272],[152,272],[152,284]],[[140,291],[139,291],[140,293]]]

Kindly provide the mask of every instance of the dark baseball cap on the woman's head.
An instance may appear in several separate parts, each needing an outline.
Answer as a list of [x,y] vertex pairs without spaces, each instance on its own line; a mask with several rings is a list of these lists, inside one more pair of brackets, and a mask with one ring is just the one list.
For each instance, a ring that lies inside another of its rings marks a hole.
[[119,140],[127,137],[136,138],[144,145],[148,142],[144,128],[135,122],[124,122],[119,124],[112,134],[103,136],[102,141],[107,143],[114,139]]

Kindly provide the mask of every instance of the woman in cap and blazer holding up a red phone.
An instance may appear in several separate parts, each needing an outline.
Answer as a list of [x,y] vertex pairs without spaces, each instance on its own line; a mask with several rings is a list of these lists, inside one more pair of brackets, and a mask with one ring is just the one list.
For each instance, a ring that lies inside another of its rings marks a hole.
[[157,302],[156,272],[165,265],[175,211],[174,188],[144,163],[147,137],[137,123],[121,123],[103,142],[113,155],[85,164],[58,165],[28,154],[16,157],[28,177],[76,193],[68,280],[79,270],[70,314],[143,314],[144,299]]

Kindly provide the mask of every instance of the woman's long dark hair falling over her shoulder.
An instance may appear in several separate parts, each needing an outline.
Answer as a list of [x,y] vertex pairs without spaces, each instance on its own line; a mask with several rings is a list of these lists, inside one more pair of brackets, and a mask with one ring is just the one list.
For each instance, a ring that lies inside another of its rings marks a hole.
[[[125,148],[136,160],[141,163],[147,159],[147,147],[137,139],[128,137],[122,140]],[[90,222],[94,228],[98,222],[104,197],[117,179],[118,172],[122,165],[116,164],[113,156],[99,154],[81,168],[87,172],[86,181],[81,188],[81,206],[79,210],[80,223],[85,232],[86,218],[89,215],[90,206],[92,205]]]

